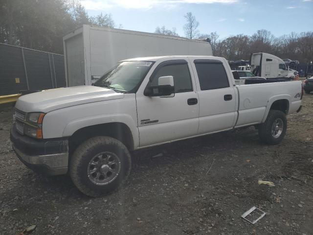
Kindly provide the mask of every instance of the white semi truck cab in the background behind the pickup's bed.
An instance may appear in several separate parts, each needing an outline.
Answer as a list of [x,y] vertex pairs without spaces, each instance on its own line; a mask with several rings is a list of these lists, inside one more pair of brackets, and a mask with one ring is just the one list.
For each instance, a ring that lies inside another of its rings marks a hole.
[[289,78],[285,62],[268,53],[254,53],[251,55],[251,71],[255,76],[265,78]]

